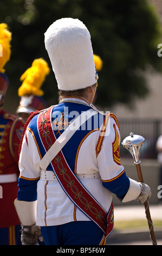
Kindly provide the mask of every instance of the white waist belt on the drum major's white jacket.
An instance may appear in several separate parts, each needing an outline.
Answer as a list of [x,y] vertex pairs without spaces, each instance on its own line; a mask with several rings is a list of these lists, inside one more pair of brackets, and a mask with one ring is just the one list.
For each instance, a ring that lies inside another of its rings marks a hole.
[[[76,174],[76,177],[78,179],[99,179],[100,173]],[[57,180],[57,178],[52,170],[41,170],[40,180]]]

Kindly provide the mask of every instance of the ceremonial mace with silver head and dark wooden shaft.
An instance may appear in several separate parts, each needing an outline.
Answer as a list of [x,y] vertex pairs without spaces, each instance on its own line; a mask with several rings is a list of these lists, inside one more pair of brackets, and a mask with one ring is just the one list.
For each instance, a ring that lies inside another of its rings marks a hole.
[[[145,139],[142,136],[134,135],[131,132],[130,135],[128,137],[126,137],[124,139],[124,141],[122,141],[122,143],[121,143],[123,145],[123,147],[126,148],[133,156],[135,167],[137,169],[138,179],[139,179],[139,182],[142,182],[142,183],[144,183],[144,179],[142,177],[142,172],[141,172],[141,167],[140,167],[141,161],[139,160],[139,156],[140,156],[140,149],[141,149],[142,144],[144,144],[144,141],[145,141]],[[145,205],[145,214],[146,214],[146,218],[147,218],[147,222],[148,222],[148,227],[150,230],[150,238],[152,240],[152,244],[157,245],[157,242],[155,240],[154,231],[153,231],[153,223],[151,220],[148,199],[145,201],[144,205]]]

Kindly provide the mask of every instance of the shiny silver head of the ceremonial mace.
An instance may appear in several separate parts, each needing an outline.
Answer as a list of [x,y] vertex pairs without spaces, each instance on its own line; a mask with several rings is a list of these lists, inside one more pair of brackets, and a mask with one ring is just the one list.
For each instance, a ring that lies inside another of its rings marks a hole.
[[140,135],[134,135],[133,132],[130,133],[128,137],[126,137],[122,141],[122,145],[124,148],[126,148],[131,155],[133,156],[134,163],[140,163],[139,160],[140,156],[140,149],[142,147],[142,144],[144,144],[145,139]]

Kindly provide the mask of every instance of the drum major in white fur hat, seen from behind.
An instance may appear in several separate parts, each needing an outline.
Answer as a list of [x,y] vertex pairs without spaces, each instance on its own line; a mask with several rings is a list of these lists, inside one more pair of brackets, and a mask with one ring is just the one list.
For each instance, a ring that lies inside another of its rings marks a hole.
[[57,20],[45,45],[59,104],[35,112],[25,124],[15,200],[22,244],[34,245],[42,235],[46,245],[105,245],[113,230],[113,193],[122,202],[143,203],[150,187],[129,179],[120,164],[115,115],[91,104],[98,74],[86,26]]

